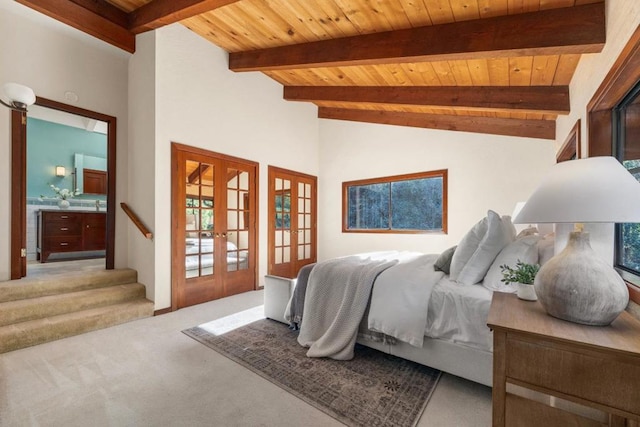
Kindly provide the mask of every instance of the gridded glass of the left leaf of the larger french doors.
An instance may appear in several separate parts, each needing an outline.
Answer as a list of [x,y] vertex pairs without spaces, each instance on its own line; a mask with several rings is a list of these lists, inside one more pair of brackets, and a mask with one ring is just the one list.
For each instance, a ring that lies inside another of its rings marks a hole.
[[194,278],[214,274],[214,166],[186,161],[185,276]]

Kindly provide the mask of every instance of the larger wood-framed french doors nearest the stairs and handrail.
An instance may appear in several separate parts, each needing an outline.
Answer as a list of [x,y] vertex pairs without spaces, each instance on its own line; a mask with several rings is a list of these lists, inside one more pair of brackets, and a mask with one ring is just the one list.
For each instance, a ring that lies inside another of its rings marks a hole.
[[172,145],[172,308],[254,290],[257,163]]

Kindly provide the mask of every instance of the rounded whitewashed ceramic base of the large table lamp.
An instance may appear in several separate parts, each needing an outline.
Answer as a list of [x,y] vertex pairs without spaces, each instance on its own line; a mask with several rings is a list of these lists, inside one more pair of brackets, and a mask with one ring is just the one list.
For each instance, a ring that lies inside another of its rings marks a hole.
[[620,275],[591,249],[588,232],[572,232],[566,248],[538,272],[534,286],[547,313],[584,325],[608,325],[627,307]]

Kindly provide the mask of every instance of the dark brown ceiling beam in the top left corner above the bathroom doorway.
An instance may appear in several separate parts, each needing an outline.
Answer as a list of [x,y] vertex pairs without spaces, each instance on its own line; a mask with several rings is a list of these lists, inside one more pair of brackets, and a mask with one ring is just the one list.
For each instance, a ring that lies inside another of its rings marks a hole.
[[[127,52],[136,50],[136,38],[126,27],[118,24],[118,12],[104,4],[88,6],[91,1],[16,0],[31,9],[64,22],[80,31],[112,44]],[[101,2],[100,2],[101,3]],[[104,16],[101,15],[104,13]]]

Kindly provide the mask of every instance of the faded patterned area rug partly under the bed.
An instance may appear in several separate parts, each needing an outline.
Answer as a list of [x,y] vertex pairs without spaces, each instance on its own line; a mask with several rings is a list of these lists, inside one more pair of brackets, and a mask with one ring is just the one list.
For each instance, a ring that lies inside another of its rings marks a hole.
[[262,319],[216,335],[183,332],[348,426],[415,426],[440,371],[356,346],[350,361],[306,357],[297,333]]

